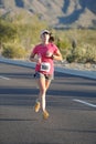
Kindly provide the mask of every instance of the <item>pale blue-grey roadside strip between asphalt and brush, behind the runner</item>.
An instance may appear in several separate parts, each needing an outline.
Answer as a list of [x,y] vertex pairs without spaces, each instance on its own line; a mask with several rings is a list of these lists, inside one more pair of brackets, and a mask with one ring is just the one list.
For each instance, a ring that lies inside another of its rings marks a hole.
[[[30,61],[23,61],[23,60],[12,60],[12,59],[6,59],[0,56],[0,63],[9,63],[13,65],[21,65],[25,68],[34,68],[35,63]],[[66,69],[65,66],[62,66],[63,63],[60,64],[60,66],[55,65],[55,71],[61,73],[66,73],[71,75],[77,75],[77,76],[84,76],[84,78],[90,78],[96,80],[96,71],[87,71],[87,70],[76,70],[76,69]]]

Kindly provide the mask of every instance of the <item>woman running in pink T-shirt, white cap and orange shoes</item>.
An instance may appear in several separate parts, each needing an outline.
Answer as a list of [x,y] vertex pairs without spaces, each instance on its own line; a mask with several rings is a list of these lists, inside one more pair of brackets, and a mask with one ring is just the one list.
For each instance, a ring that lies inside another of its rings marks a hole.
[[40,90],[39,97],[35,101],[34,110],[43,112],[43,119],[50,116],[46,111],[45,95],[54,78],[54,60],[62,61],[62,54],[58,48],[53,43],[54,38],[49,30],[43,30],[40,34],[41,43],[35,45],[31,52],[30,60],[35,62],[35,74]]

